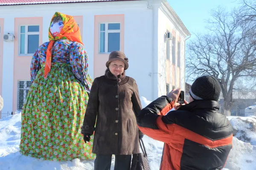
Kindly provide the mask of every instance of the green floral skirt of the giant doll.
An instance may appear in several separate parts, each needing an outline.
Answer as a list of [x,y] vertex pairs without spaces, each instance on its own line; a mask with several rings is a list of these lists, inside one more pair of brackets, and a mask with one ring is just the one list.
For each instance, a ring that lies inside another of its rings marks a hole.
[[53,161],[94,159],[93,136],[85,144],[81,135],[87,101],[70,65],[52,65],[47,79],[41,68],[23,105],[20,153]]

